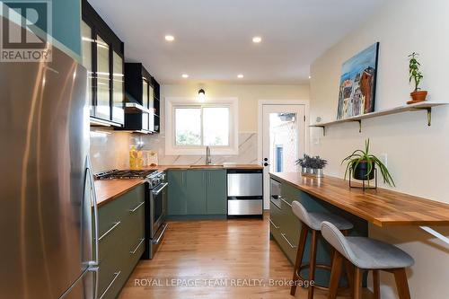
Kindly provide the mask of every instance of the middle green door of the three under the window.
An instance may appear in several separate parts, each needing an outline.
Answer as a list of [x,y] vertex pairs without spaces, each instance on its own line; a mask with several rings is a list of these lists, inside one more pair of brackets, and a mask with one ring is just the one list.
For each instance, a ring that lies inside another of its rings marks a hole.
[[206,171],[187,171],[187,214],[206,214]]

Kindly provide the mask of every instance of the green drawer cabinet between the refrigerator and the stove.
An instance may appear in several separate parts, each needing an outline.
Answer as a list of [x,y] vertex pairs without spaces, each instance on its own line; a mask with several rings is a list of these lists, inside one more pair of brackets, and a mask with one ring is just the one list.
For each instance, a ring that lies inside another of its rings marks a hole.
[[[144,251],[145,186],[140,185],[99,208],[98,298],[119,295]],[[134,253],[133,253],[134,252]]]

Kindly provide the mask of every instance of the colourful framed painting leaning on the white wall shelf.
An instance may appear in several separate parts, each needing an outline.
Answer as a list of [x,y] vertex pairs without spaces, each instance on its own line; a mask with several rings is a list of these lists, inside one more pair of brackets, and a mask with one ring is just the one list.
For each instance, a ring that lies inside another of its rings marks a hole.
[[337,119],[374,112],[379,43],[348,59],[341,69]]

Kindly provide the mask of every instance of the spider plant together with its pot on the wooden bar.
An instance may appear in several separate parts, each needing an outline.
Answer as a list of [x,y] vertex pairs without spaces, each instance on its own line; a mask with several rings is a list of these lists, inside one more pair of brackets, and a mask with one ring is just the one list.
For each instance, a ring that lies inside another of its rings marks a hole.
[[369,139],[365,140],[365,150],[356,150],[348,157],[343,159],[341,164],[347,163],[345,171],[345,180],[348,176],[348,172],[352,173],[352,177],[356,180],[373,180],[374,169],[376,166],[382,173],[383,182],[390,186],[394,185],[392,175],[388,171],[387,167],[382,161],[369,151]]

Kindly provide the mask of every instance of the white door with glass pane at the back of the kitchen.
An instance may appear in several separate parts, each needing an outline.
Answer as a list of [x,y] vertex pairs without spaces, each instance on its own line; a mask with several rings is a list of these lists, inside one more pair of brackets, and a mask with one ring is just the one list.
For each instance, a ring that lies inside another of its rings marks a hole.
[[304,105],[262,106],[264,208],[269,209],[269,172],[296,172],[305,150]]

